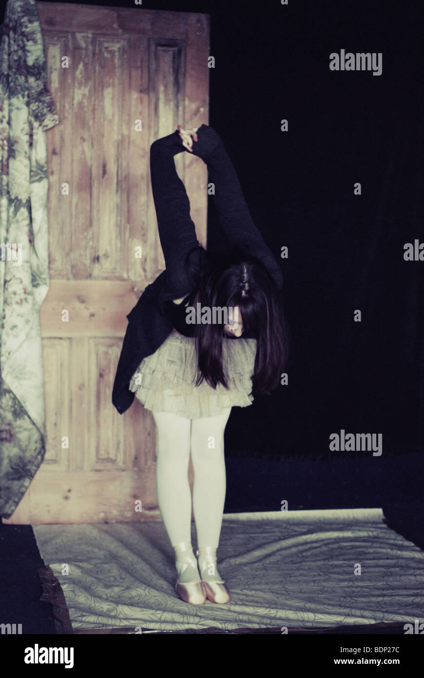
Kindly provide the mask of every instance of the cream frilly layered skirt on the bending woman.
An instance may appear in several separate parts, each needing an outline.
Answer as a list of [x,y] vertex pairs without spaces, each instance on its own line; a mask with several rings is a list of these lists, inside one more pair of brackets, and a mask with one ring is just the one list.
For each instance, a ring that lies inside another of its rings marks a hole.
[[253,402],[252,376],[257,340],[222,340],[222,359],[227,389],[205,380],[195,385],[196,339],[172,330],[155,353],[142,360],[129,388],[146,410],[174,412],[189,419],[216,416],[224,407],[247,407]]

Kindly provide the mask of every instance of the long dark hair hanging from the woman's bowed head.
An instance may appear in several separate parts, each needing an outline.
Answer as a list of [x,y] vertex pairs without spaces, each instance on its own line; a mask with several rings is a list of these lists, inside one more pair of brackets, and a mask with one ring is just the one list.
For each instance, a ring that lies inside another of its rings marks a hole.
[[[188,252],[186,267],[197,288],[194,308],[197,302],[211,309],[239,306],[244,331],[257,340],[252,393],[269,395],[287,365],[288,334],[280,291],[266,266],[237,245],[226,252],[206,252],[199,245]],[[224,323],[198,323],[194,336],[196,386],[206,380],[213,388],[219,383],[229,388],[222,365]]]

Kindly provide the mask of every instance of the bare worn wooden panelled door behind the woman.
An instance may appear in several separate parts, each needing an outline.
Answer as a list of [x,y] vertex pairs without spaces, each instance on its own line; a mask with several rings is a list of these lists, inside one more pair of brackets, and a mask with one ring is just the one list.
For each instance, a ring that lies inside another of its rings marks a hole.
[[[45,133],[47,453],[3,523],[160,520],[154,420],[137,399],[120,415],[111,393],[125,316],[165,268],[150,144],[177,124],[209,121],[209,15],[58,2],[37,8],[60,117]],[[206,247],[207,168],[188,153],[175,166]]]

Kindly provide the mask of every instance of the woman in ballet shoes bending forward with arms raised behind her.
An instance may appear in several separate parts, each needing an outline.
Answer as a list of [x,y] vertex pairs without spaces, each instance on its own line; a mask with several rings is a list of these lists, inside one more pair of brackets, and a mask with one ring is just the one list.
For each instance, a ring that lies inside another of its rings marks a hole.
[[[228,603],[216,555],[226,495],[224,430],[231,407],[247,407],[254,395],[280,384],[287,358],[278,298],[282,275],[251,220],[217,132],[208,125],[178,129],[150,146],[167,279],[159,300],[173,329],[143,358],[129,390],[156,423],[158,505],[175,551],[177,595],[188,603]],[[207,163],[230,241],[221,252],[206,252],[196,239],[173,161],[184,150]],[[190,452],[198,561],[191,542]]]

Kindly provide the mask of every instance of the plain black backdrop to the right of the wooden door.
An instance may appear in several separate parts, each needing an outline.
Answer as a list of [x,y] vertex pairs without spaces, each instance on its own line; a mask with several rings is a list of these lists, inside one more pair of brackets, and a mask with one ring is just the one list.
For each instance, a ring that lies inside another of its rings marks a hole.
[[[135,7],[129,0],[84,4]],[[424,447],[424,261],[403,257],[404,243],[424,243],[421,1],[143,0],[143,9],[211,15],[209,123],[268,245],[277,258],[289,248],[280,260],[289,384],[233,408],[226,510],[275,509],[282,490],[271,500],[269,483],[283,462],[284,473],[291,468],[283,498],[308,469],[324,485],[355,483],[345,503],[333,487],[331,506],[381,506],[375,473],[380,489],[402,477],[392,498],[410,499],[419,492],[413,483]],[[381,75],[330,71],[329,55],[341,49],[381,52]],[[288,132],[280,131],[282,119]],[[362,195],[354,195],[356,182]],[[211,203],[208,238],[219,247]],[[382,456],[330,452],[329,436],[341,429],[381,433]],[[311,466],[317,460],[323,465]],[[260,490],[253,477],[263,474]],[[322,497],[311,500],[312,478],[305,483],[293,502],[324,506]]]

